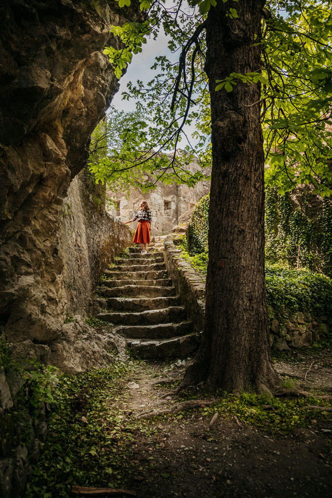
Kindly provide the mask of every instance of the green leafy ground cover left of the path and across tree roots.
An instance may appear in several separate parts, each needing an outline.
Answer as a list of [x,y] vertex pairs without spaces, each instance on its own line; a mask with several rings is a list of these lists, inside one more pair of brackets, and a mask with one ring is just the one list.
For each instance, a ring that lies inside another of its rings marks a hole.
[[[315,418],[332,418],[331,413],[305,408],[309,404],[328,405],[315,395],[305,399],[284,399],[267,394],[242,393],[235,396],[221,393],[217,394],[220,400],[211,406],[203,404],[176,415],[164,414],[136,420],[131,406],[132,390],[126,384],[129,380],[138,379],[142,384],[149,378],[160,377],[165,368],[169,368],[169,363],[142,360],[130,363],[116,363],[76,376],[59,375],[57,384],[52,387],[47,440],[27,485],[26,498],[69,498],[72,496],[71,487],[75,485],[130,489],[137,471],[148,479],[154,468],[153,453],[143,467],[137,468],[132,451],[136,444],[142,442],[158,448],[158,420],[163,422],[163,427],[166,422],[171,431],[171,427],[180,421],[192,424],[193,414],[195,418],[206,417],[210,421],[218,411],[219,426],[222,419],[234,421],[236,417],[240,424],[287,434],[296,428],[311,425]],[[159,390],[160,386],[155,388]],[[159,394],[154,389],[153,398],[168,389],[169,386],[162,386]],[[215,428],[202,428],[203,439],[217,441],[218,437]]]

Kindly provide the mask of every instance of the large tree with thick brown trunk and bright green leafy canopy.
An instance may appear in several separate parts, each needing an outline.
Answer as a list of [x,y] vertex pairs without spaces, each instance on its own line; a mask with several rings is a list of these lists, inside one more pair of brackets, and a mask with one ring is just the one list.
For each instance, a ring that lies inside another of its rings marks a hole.
[[[168,76],[164,86],[157,78],[148,91],[141,82],[130,88],[156,108],[161,146],[176,148],[183,124],[195,114],[190,108],[197,103],[197,88],[206,102],[204,82],[209,82],[209,109],[196,112],[205,122],[211,116],[212,136],[206,317],[198,358],[185,384],[270,390],[277,376],[265,296],[264,161],[269,180],[280,191],[310,181],[322,195],[331,193],[331,5],[271,0],[270,11],[264,0],[189,3],[198,5],[199,12],[188,15],[181,0],[173,9],[142,1],[152,28],[146,19],[140,27],[116,28],[124,48],[108,53],[120,71],[131,51],[140,49],[144,29],[156,29],[157,19],[172,35],[173,48],[182,45],[178,66],[158,60],[162,77]],[[187,30],[179,23],[186,16]],[[165,118],[168,96],[170,124]],[[149,135],[153,132],[150,128]],[[177,174],[175,157],[167,168]]]

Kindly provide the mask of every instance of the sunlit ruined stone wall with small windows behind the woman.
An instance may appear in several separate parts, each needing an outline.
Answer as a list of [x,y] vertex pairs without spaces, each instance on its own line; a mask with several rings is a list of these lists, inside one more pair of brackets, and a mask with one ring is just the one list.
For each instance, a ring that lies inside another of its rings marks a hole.
[[[188,164],[188,169],[196,173],[200,166],[197,160]],[[205,174],[209,172],[206,171]],[[148,180],[148,176],[145,178]],[[115,197],[117,206],[110,207],[110,213],[121,221],[132,219],[139,210],[139,204],[145,199],[152,214],[152,235],[169,234],[173,227],[180,223],[180,218],[190,210],[196,203],[210,192],[210,181],[198,182],[195,187],[187,185],[164,185],[158,182],[155,190],[144,194],[140,189],[130,188],[129,196],[123,192],[109,192],[111,198]],[[137,222],[131,224],[136,228]]]

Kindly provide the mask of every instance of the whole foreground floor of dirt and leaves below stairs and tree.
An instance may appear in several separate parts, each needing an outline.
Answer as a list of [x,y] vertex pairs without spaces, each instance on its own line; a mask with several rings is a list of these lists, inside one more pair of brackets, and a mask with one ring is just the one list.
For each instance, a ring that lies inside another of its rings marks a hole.
[[[315,385],[322,393],[330,353],[314,363],[312,356],[279,359],[276,367],[292,382],[311,365],[309,373],[324,366]],[[186,365],[118,365],[62,380],[27,498],[69,498],[72,485],[128,489],[138,498],[332,496],[332,413],[304,408],[322,400],[273,398],[273,409],[265,410],[263,397],[221,393],[215,405],[137,420],[142,411],[179,401],[162,396]],[[306,389],[316,376],[309,373],[301,380]]]

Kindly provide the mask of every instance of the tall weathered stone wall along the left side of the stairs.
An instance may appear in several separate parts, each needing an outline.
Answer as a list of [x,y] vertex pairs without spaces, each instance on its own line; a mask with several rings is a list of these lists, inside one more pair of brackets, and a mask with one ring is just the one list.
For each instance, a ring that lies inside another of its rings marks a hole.
[[104,198],[103,189],[84,181],[83,173],[63,201],[58,248],[67,315],[86,314],[107,264],[132,242],[129,227],[106,212]]

